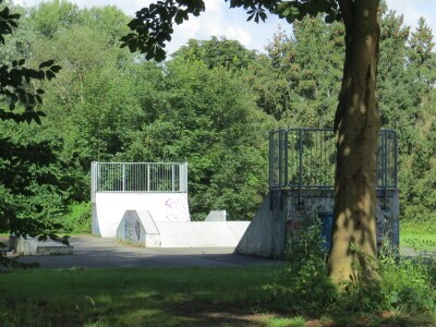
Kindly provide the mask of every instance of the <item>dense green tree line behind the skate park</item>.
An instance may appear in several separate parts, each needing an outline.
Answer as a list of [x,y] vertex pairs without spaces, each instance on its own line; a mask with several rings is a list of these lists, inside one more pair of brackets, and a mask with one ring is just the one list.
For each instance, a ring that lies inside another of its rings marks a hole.
[[[22,146],[44,143],[56,158],[25,168],[31,180],[44,182],[29,183],[14,205],[23,217],[77,227],[64,217],[73,208],[74,219],[86,221],[90,161],[117,160],[187,161],[193,219],[210,209],[251,219],[267,192],[268,131],[332,126],[343,63],[340,23],[306,17],[291,33],[279,29],[266,53],[225,38],[190,40],[158,64],[120,49],[130,17],[114,7],[4,5],[23,16],[0,58],[36,65],[52,58],[62,66],[56,80],[43,82],[41,125],[0,122],[3,137]],[[433,34],[424,20],[411,32],[386,7],[380,15],[377,87],[383,125],[399,133],[402,219],[433,220]]]

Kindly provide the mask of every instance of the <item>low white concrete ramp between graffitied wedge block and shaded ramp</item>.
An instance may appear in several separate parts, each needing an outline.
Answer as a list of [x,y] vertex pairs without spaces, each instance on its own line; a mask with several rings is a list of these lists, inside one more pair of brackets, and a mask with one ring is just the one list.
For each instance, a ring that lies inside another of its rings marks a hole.
[[234,247],[250,221],[156,221],[162,247]]

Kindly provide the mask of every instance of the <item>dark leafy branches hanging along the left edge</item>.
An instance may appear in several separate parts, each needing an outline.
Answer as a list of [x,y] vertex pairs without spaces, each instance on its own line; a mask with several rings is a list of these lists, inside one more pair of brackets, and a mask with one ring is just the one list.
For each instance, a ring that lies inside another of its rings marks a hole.
[[[11,13],[9,7],[2,5],[0,40],[3,47],[4,36],[12,34],[17,27],[19,19],[20,14]],[[45,114],[38,106],[43,104],[44,90],[37,82],[52,80],[60,69],[53,60],[41,62],[38,69],[31,69],[26,66],[25,59],[13,60],[0,66],[0,194],[3,198],[0,204],[1,232],[68,242],[53,233],[59,225],[35,219],[44,207],[41,197],[35,197],[36,190],[47,190],[55,179],[46,170],[53,161],[49,143],[32,138],[23,142],[16,134],[10,133],[11,129],[22,122],[41,123],[40,118]]]

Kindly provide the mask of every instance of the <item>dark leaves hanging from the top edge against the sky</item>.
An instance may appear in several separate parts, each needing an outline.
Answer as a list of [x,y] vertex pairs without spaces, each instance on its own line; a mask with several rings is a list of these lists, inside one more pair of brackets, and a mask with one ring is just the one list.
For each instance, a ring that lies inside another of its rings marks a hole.
[[[259,0],[226,0],[230,8],[243,8],[249,15],[247,21],[265,21],[267,12],[278,14],[289,23],[301,21],[304,16],[312,17],[325,13],[326,22],[340,20],[340,10],[334,0],[295,0],[295,1],[259,1]],[[150,3],[136,12],[136,17],[129,23],[132,31],[121,38],[122,47],[129,47],[132,52],[145,53],[147,60],[166,59],[165,43],[171,40],[173,23],[182,24],[189,15],[198,16],[205,10],[203,0],[166,0]]]

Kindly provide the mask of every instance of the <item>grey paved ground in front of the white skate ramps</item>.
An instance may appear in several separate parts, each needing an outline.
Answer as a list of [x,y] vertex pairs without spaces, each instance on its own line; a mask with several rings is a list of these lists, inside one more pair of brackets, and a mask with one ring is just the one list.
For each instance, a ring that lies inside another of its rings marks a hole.
[[72,237],[73,255],[22,256],[21,262],[38,262],[40,268],[120,268],[247,266],[280,262],[233,254],[233,247],[150,249],[118,244],[116,239]]

